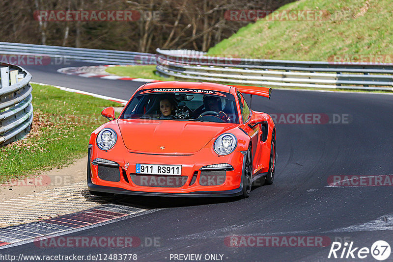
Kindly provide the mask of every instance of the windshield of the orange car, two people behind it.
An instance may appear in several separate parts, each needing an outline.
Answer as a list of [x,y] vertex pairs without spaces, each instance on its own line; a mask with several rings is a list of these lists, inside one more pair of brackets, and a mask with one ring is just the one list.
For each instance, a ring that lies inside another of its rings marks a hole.
[[120,119],[239,123],[235,98],[231,94],[193,89],[183,92],[158,90],[140,90],[127,104]]

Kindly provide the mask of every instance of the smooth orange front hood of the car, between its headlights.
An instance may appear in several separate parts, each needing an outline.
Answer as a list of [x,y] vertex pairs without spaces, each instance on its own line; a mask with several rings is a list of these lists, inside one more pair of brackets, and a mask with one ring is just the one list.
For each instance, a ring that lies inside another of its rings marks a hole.
[[[236,124],[178,120],[117,120],[126,148],[156,154],[190,154]],[[165,147],[162,149],[162,147]]]

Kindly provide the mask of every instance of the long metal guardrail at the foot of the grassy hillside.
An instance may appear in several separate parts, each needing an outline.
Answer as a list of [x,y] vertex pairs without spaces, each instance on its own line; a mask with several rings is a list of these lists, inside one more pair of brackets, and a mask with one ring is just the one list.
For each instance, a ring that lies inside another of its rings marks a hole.
[[268,87],[393,91],[393,64],[220,58],[192,50],[156,51],[158,73],[176,79]]

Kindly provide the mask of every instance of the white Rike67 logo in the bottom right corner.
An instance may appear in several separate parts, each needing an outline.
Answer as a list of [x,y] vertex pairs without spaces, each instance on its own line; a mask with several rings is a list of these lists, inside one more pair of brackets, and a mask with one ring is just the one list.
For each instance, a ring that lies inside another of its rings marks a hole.
[[340,242],[333,242],[329,251],[328,259],[365,259],[371,255],[374,259],[383,261],[389,258],[391,248],[388,242],[378,240],[368,247],[354,247],[354,242],[345,242],[343,245]]

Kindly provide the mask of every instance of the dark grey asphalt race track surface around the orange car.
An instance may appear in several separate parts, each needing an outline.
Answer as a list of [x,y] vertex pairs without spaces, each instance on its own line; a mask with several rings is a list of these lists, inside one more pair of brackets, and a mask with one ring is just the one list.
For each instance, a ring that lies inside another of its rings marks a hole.
[[[73,63],[72,66],[77,66]],[[142,84],[84,79],[55,67],[25,67],[33,81],[127,100]],[[66,236],[136,236],[160,239],[135,248],[37,248],[33,243],[0,254],[88,255],[133,253],[138,261],[175,261],[170,254],[223,254],[223,261],[335,261],[327,247],[229,247],[227,236],[324,236],[354,247],[385,240],[393,247],[392,186],[327,187],[332,175],[393,173],[393,96],[273,90],[253,97],[252,108],[269,114],[349,114],[347,124],[277,124],[276,178],[253,187],[248,199],[128,197],[127,205],[150,213]],[[337,252],[337,255],[341,254]],[[356,255],[356,252],[355,252]],[[357,259],[338,259],[356,261]],[[392,261],[393,255],[386,261]],[[202,260],[203,261],[203,260]],[[362,261],[376,261],[370,254]]]

